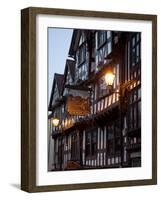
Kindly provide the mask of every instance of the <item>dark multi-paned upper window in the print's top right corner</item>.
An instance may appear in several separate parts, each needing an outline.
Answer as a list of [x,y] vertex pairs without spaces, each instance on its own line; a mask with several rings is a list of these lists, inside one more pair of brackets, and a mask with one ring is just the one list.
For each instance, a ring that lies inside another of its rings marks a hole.
[[140,61],[141,35],[137,33],[131,39],[131,67],[134,67]]

